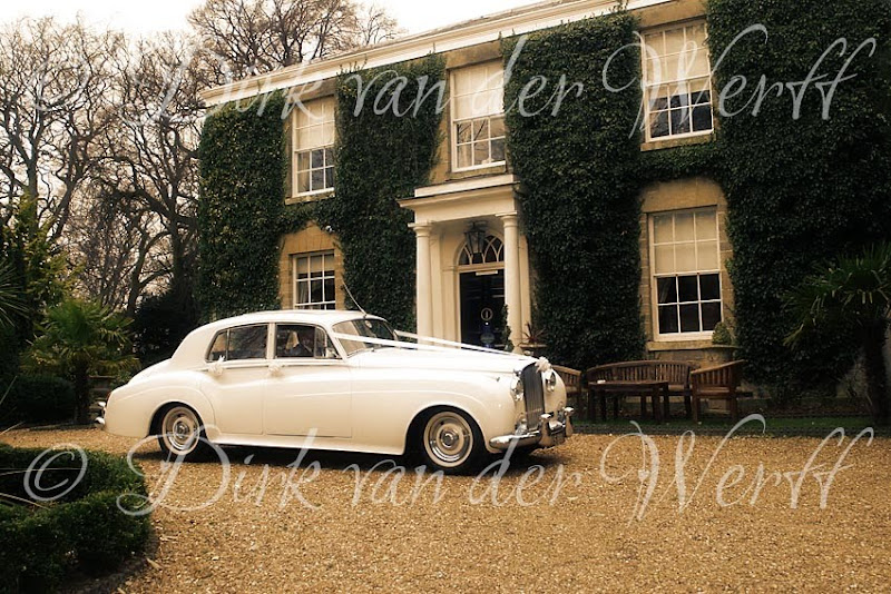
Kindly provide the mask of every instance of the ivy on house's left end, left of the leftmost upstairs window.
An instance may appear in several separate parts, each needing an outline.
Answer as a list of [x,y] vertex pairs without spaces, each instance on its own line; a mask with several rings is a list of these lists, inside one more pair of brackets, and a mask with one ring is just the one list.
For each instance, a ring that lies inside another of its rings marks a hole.
[[285,216],[284,108],[275,93],[205,121],[197,295],[207,319],[281,307],[280,237],[295,222]]

